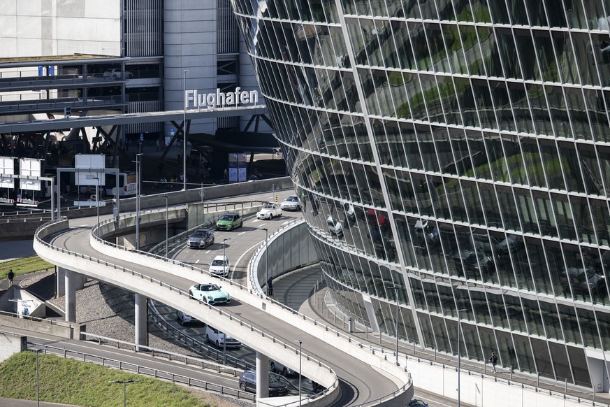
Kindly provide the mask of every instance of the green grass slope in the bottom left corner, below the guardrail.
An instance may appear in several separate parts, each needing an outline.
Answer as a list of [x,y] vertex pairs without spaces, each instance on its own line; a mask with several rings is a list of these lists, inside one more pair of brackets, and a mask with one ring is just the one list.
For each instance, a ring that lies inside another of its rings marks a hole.
[[[89,407],[123,405],[123,385],[110,380],[140,380],[126,385],[129,406],[214,407],[173,383],[54,355],[38,355],[40,400]],[[36,353],[20,352],[0,364],[0,397],[36,400]]]

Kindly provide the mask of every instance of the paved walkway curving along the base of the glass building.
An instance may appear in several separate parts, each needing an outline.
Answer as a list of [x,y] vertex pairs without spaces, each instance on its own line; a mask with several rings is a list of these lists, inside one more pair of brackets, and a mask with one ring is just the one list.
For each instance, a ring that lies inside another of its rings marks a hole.
[[[298,310],[300,313],[307,315],[307,317],[324,320],[327,324],[347,334],[347,317],[335,308],[328,287],[321,283],[321,279],[322,271],[319,266],[312,266],[302,271],[288,273],[286,276],[274,280],[274,297],[277,301]],[[316,291],[317,284],[319,284],[319,290]],[[358,341],[362,343],[369,343],[373,348],[383,348],[388,354],[395,355],[395,338],[389,336],[380,337],[379,333],[371,333],[370,331],[367,333],[360,324],[355,325],[354,332],[350,335],[358,338]],[[404,358],[406,355],[409,359],[417,357],[457,367],[456,358],[449,357],[443,353],[421,350],[415,346],[405,346],[405,343],[399,343],[398,349],[400,358]],[[595,405],[610,405],[610,394],[607,393],[593,394],[593,390],[587,391],[582,387],[569,384],[566,391],[565,385],[557,385],[544,378],[537,380],[537,378],[524,373],[511,373],[509,369],[502,366],[497,368],[498,373],[492,373],[491,366],[464,358],[461,359],[460,364],[461,369],[465,372],[476,372],[490,378],[496,377],[500,380],[510,380],[511,383],[521,383],[527,387],[538,387],[553,393],[569,394],[573,397],[588,400],[591,404],[595,401]]]

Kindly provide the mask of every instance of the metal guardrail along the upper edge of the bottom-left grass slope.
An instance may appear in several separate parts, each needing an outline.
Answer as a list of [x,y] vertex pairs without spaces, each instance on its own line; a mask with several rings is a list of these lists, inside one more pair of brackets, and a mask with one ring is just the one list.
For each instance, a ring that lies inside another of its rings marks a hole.
[[[91,335],[91,334],[88,334]],[[117,359],[110,359],[108,357],[99,357],[96,355],[90,355],[85,352],[78,352],[75,350],[67,350],[66,348],[58,348],[57,346],[50,346],[41,343],[28,342],[28,348],[32,348],[31,350],[39,350],[42,349],[43,352],[50,355],[58,355],[64,358],[71,358],[76,360],[81,360],[82,362],[96,363],[105,367],[112,367],[115,369],[119,369],[122,371],[131,371],[133,373],[137,373],[140,375],[152,376],[157,379],[165,379],[170,380],[172,383],[180,383],[182,385],[188,385],[189,387],[198,387],[200,389],[206,390],[208,392],[218,392],[220,394],[228,394],[232,397],[236,397],[238,399],[247,399],[248,401],[256,401],[256,395],[252,393],[245,392],[239,389],[233,389],[232,387],[225,387],[222,385],[217,385],[215,383],[209,383],[204,380],[199,380],[196,378],[190,378],[189,376],[180,375],[177,373],[170,373],[168,371],[163,371],[159,369],[152,369],[145,366],[140,366],[138,364],[133,364],[129,362],[122,362]],[[135,345],[134,345],[135,346]],[[142,346],[140,346],[142,348]],[[157,354],[159,355],[159,354]],[[202,366],[202,369],[205,369]]]

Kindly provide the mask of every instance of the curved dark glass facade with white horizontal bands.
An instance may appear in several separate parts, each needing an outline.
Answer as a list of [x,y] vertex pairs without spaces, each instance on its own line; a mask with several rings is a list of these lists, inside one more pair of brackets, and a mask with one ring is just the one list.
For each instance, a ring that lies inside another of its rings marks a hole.
[[232,0],[337,304],[610,383],[610,1]]

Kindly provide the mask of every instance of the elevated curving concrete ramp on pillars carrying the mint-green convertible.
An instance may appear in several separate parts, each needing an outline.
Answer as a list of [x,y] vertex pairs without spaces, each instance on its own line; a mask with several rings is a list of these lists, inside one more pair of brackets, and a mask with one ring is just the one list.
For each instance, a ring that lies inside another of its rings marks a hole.
[[[247,236],[258,229],[255,226],[247,220],[242,231],[233,232],[227,255],[237,259],[261,243],[264,234],[260,231],[252,234],[255,237]],[[272,226],[269,224],[270,231]],[[312,405],[403,407],[412,397],[412,381],[404,366],[230,280],[222,283],[233,298],[230,306],[198,304],[188,298],[187,290],[194,283],[210,280],[201,269],[116,248],[92,237],[89,228],[70,228],[66,221],[41,228],[34,249],[43,259],[65,269],[124,287],[222,327],[261,355],[271,355],[289,366],[298,365],[300,360],[304,376],[328,387],[326,397]],[[297,340],[303,343],[303,355],[298,354]]]

